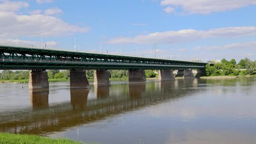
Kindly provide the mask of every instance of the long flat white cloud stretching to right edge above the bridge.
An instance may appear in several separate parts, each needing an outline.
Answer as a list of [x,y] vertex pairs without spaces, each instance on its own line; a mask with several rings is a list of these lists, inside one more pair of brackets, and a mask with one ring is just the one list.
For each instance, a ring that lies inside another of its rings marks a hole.
[[155,32],[148,35],[137,35],[134,38],[120,37],[109,40],[111,44],[151,44],[151,43],[183,43],[184,41],[200,40],[203,38],[234,38],[256,35],[256,26],[227,27],[197,31],[195,29],[182,29],[180,31]]

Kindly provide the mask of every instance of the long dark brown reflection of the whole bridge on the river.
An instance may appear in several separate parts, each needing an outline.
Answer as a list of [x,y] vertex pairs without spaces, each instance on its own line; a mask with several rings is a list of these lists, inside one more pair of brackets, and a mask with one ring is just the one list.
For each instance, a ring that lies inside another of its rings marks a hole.
[[88,94],[92,89],[70,89],[70,102],[53,106],[48,104],[49,91],[29,91],[32,109],[0,113],[0,131],[40,135],[62,131],[76,125],[189,96],[199,91],[196,89],[195,80],[96,85],[94,95],[97,99],[91,100],[88,99]]

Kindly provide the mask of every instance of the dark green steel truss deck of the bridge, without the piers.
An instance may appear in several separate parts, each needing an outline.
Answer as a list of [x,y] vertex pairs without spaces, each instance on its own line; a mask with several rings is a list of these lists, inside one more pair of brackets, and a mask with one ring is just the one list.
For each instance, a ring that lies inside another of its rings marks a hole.
[[0,70],[186,70],[207,62],[0,44]]

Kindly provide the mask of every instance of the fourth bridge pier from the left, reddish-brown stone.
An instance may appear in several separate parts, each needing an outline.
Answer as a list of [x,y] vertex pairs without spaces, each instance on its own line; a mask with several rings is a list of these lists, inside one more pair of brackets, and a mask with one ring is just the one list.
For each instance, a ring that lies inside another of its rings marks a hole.
[[145,70],[129,70],[129,82],[145,82]]

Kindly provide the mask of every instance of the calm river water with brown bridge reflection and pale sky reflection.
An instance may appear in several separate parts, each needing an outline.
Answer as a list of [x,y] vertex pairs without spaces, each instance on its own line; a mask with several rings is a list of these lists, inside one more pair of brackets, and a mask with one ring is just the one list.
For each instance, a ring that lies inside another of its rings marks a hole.
[[0,132],[98,143],[256,143],[256,79],[29,91],[0,84]]

